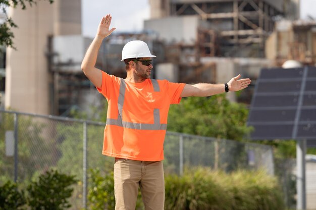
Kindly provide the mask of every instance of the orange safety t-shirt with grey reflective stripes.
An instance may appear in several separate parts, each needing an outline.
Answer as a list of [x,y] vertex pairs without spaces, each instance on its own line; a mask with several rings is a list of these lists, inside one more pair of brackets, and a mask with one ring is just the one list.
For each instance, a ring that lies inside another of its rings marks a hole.
[[184,86],[153,79],[130,83],[102,72],[102,85],[97,90],[109,103],[102,154],[163,160],[169,106],[180,103]]

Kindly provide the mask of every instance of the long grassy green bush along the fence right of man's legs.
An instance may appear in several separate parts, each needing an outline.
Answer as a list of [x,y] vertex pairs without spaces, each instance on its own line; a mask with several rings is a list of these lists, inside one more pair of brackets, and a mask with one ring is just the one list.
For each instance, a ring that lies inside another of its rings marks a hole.
[[198,168],[165,178],[165,209],[282,210],[282,191],[263,171],[226,174]]

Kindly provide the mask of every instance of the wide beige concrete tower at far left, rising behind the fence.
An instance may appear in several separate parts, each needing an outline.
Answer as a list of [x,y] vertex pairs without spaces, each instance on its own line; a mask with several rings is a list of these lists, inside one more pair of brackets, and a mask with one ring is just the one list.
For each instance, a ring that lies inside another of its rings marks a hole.
[[17,50],[7,48],[6,108],[48,114],[47,35],[53,34],[53,6],[40,1],[27,10],[9,8]]

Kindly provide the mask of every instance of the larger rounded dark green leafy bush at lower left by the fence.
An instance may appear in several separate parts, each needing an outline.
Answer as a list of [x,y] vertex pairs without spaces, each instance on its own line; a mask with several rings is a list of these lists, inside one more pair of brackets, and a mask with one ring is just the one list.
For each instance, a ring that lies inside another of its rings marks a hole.
[[68,198],[71,197],[77,180],[74,176],[61,174],[50,170],[31,182],[27,187],[28,205],[31,210],[63,210],[71,207]]

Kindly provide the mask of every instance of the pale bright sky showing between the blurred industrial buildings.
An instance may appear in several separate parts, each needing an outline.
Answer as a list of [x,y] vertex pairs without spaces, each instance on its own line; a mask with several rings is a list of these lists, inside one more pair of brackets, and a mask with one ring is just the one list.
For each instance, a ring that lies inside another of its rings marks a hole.
[[[116,31],[141,31],[144,20],[150,17],[148,0],[81,0],[82,34],[94,37],[97,26],[107,14],[112,15],[112,27]],[[301,18],[311,16],[316,20],[316,0],[300,0]]]

